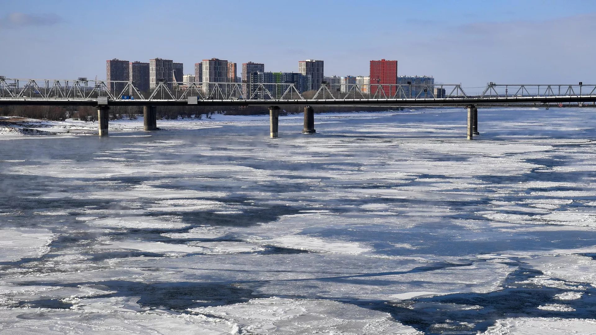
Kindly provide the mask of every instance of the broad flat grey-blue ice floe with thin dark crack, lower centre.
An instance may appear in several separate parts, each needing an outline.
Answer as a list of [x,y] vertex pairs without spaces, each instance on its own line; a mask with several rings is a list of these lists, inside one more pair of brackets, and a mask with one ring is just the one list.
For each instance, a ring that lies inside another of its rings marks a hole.
[[[503,263],[474,262],[410,272],[436,263],[423,258],[386,259],[333,253],[128,258],[105,263],[110,268],[135,269],[139,278],[148,282],[240,283],[268,295],[375,300],[400,300],[396,294],[418,291],[487,293],[499,290],[504,278],[515,268]],[[98,274],[68,274],[61,281],[87,281]]]

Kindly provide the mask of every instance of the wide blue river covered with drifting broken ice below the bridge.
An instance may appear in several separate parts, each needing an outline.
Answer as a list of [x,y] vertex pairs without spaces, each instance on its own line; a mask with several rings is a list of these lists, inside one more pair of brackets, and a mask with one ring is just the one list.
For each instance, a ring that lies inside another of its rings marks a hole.
[[595,112],[0,136],[0,334],[593,334]]

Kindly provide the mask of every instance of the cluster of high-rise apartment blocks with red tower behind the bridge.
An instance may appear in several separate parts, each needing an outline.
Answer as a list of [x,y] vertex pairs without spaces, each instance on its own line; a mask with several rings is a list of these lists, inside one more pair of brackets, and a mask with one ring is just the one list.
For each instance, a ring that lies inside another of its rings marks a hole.
[[[160,63],[157,63],[157,62]],[[128,60],[113,60],[106,61],[106,83],[115,92],[122,91],[125,83],[113,83],[111,80],[128,81],[135,85],[136,88],[148,86],[155,89],[158,82],[166,83],[167,87],[187,88],[191,83],[198,83],[202,85],[202,89],[206,94],[212,91],[215,87],[211,84],[205,86],[204,84],[214,82],[229,82],[229,83],[250,83],[242,87],[242,94],[252,96],[253,92],[259,90],[256,83],[293,83],[296,85],[298,92],[317,91],[321,88],[321,84],[325,83],[328,89],[332,92],[347,93],[353,89],[352,85],[357,85],[358,91],[369,92],[372,94],[377,91],[377,86],[373,84],[402,84],[412,85],[406,88],[407,92],[402,92],[406,95],[417,96],[421,90],[426,87],[432,89],[434,85],[433,76],[399,76],[398,61],[396,60],[370,60],[370,74],[369,76],[325,76],[324,75],[324,61],[322,60],[304,60],[298,62],[298,72],[265,72],[265,64],[254,63],[249,61],[243,63],[241,67],[241,76],[237,76],[237,63],[232,63],[228,60],[220,60],[219,58],[204,59],[199,63],[194,64],[194,75],[189,73],[184,75],[184,64],[173,63],[173,60],[163,60],[162,58],[155,58],[150,60],[150,63],[142,63],[140,61],[129,62]],[[123,65],[122,65],[123,64]],[[141,64],[147,65],[147,73],[142,72]],[[120,66],[122,65],[122,66]],[[135,65],[138,65],[134,67]],[[122,68],[122,69],[121,69]],[[171,69],[170,69],[171,68]],[[171,81],[167,80],[165,73],[172,70]],[[126,73],[124,73],[126,72]],[[206,76],[203,76],[206,73]],[[425,86],[430,85],[430,86]],[[267,89],[276,90],[274,86]],[[396,94],[395,86],[382,86],[384,96],[393,96]],[[147,91],[141,89],[141,91]],[[426,95],[424,89],[424,95]],[[280,92],[281,93],[281,92]],[[133,94],[133,88],[131,88]],[[262,94],[260,92],[259,94]]]

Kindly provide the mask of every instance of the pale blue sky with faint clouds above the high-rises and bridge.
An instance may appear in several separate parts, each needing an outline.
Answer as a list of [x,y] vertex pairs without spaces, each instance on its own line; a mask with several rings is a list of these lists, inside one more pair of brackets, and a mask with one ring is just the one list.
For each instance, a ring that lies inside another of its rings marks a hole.
[[596,1],[6,1],[0,75],[105,78],[105,60],[204,58],[296,72],[399,75],[436,82],[596,83]]

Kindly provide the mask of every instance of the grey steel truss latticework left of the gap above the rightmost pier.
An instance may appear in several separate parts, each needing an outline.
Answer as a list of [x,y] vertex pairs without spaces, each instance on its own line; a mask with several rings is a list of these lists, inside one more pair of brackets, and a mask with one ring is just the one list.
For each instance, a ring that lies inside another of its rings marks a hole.
[[327,100],[327,99],[405,99],[468,97],[461,85],[453,84],[323,84],[317,91],[304,92],[296,83],[158,82],[141,89],[123,80],[8,79],[0,76],[0,98],[89,100]]

